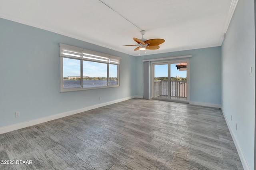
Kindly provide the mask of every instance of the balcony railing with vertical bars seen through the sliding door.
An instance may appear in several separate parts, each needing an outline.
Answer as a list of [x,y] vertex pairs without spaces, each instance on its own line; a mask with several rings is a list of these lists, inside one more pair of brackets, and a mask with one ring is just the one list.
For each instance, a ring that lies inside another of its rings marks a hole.
[[[155,80],[154,97],[168,96],[168,80]],[[171,97],[187,97],[187,81],[186,80],[171,80],[170,81],[170,96]]]

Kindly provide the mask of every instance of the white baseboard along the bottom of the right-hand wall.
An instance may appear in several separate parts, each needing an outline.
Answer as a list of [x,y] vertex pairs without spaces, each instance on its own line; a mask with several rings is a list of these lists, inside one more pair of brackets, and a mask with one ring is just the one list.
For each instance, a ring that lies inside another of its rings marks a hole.
[[230,123],[229,123],[229,121],[228,121],[227,115],[226,115],[225,111],[223,110],[223,108],[221,108],[221,110],[222,110],[222,113],[223,113],[224,118],[225,118],[225,120],[226,120],[226,123],[227,123],[227,125],[228,125],[228,129],[229,129],[229,131],[230,131],[230,134],[231,134],[231,136],[232,136],[232,138],[233,138],[233,141],[234,141],[234,144],[235,144],[235,146],[236,146],[236,150],[237,150],[237,152],[238,152],[238,155],[239,155],[239,157],[240,157],[240,160],[241,160],[241,162],[242,162],[243,168],[244,168],[244,170],[250,170],[250,168],[249,168],[249,166],[248,166],[248,163],[247,163],[247,161],[246,161],[246,158],[245,158],[245,156],[244,156],[244,153],[243,153],[243,151],[242,151],[242,148],[240,147],[240,144],[239,144],[239,142],[238,142],[238,140],[237,140],[237,138],[236,138],[236,135],[234,134],[234,132],[233,132],[233,130],[232,130],[232,128],[231,128],[231,125],[230,125]]

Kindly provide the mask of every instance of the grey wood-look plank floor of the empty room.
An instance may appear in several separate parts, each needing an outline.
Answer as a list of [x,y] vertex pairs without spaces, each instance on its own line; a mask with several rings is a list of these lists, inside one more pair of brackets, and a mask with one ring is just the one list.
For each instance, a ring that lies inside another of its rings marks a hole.
[[131,99],[0,134],[0,169],[241,170],[220,109]]

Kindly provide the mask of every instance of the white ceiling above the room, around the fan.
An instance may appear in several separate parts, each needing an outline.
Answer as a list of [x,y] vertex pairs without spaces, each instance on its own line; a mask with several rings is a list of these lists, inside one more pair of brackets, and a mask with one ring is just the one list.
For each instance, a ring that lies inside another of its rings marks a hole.
[[[149,55],[220,46],[238,0],[0,0],[0,18],[138,56],[133,37],[162,38]],[[125,19],[126,18],[126,19]],[[60,42],[61,43],[61,42]],[[72,44],[71,44],[72,45]]]

